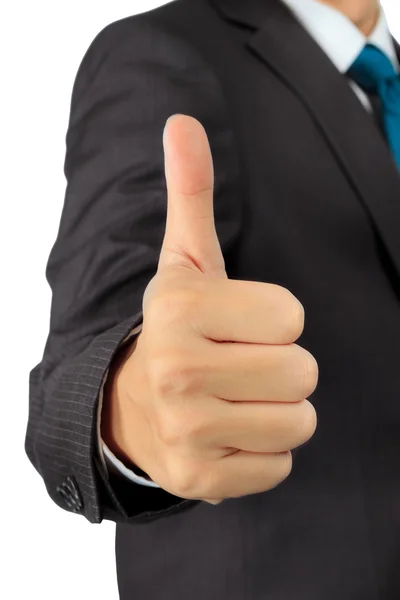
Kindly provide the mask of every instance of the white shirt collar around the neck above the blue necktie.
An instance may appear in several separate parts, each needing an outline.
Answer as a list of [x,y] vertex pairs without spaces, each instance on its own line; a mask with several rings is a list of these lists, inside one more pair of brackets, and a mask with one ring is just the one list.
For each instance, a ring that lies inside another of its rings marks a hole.
[[374,44],[382,50],[396,71],[400,71],[395,46],[382,7],[374,31],[366,37],[342,12],[319,0],[283,0],[283,2],[288,5],[341,73],[348,71],[367,43]]

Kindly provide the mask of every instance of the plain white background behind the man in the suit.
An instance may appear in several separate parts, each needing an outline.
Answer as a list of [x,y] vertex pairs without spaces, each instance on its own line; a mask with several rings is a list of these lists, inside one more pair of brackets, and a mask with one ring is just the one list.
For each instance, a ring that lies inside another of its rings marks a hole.
[[[48,330],[50,290],[44,271],[64,200],[65,134],[77,68],[105,25],[163,3],[36,0],[10,2],[2,11],[0,597],[4,600],[118,599],[114,524],[91,525],[58,508],[25,456],[28,373],[41,360]],[[384,0],[383,5],[400,40],[399,0]]]

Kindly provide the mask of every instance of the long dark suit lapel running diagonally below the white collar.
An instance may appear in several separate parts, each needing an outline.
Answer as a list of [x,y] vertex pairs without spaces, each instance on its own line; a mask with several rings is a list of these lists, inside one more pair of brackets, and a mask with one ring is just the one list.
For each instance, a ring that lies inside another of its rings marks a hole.
[[[400,174],[380,131],[330,59],[278,0],[213,0],[253,29],[247,45],[298,96],[400,275]],[[400,56],[400,47],[396,44]],[[323,198],[321,198],[323,201]]]

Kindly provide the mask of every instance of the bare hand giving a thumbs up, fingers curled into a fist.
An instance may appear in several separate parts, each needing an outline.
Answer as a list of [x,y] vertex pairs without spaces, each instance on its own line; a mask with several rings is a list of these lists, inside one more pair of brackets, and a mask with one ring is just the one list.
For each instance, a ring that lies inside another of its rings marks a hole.
[[318,366],[294,343],[304,309],[287,289],[227,277],[202,125],[174,115],[163,142],[165,237],[114,378],[112,438],[163,489],[217,504],[289,475],[291,450],[316,428]]

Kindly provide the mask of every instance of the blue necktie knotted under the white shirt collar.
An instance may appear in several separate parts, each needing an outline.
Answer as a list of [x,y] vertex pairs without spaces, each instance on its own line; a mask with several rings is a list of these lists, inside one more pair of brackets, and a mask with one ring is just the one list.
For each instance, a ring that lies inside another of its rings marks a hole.
[[367,44],[348,73],[365,92],[378,95],[383,127],[400,169],[400,75],[381,50]]

